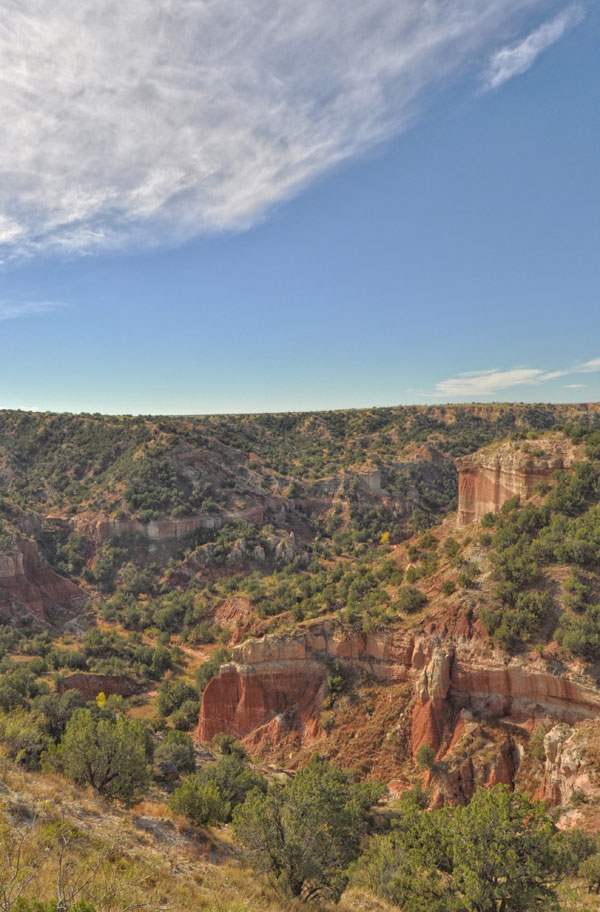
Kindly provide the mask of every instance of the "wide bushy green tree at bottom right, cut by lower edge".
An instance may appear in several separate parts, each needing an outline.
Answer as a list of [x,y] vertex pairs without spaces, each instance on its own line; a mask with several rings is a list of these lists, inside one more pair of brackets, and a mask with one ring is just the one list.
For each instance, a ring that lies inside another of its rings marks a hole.
[[403,912],[548,912],[576,850],[541,802],[499,785],[464,808],[423,812],[406,799],[358,876]]

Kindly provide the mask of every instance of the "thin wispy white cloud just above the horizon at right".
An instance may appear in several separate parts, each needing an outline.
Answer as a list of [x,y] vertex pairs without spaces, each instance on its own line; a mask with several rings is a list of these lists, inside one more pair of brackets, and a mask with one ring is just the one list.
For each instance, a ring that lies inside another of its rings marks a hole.
[[[512,370],[466,371],[440,380],[435,385],[436,396],[491,396],[515,386],[533,386],[566,377],[569,374],[600,372],[600,358],[575,364],[564,370],[542,370],[534,367],[515,367]],[[571,383],[565,389],[581,389],[584,384]]]

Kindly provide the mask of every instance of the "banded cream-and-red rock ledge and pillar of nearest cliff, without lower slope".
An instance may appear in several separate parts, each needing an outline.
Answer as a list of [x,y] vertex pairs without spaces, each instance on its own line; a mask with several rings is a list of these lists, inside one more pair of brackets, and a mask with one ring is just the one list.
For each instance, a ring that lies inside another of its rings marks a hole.
[[[355,682],[370,680],[382,688],[408,685],[397,707],[398,725],[401,718],[409,720],[408,757],[423,744],[444,757],[464,718],[474,724],[501,720],[511,725],[532,718],[569,725],[600,718],[600,690],[594,681],[576,673],[553,674],[540,657],[509,659],[484,640],[441,636],[428,628],[365,634],[324,621],[294,635],[235,647],[233,660],[206,687],[198,738],[209,741],[227,732],[260,751],[293,731],[299,744],[312,744],[323,736],[319,719],[334,661]],[[485,781],[506,781],[512,775],[509,741],[505,735],[496,738]],[[472,769],[469,776],[473,781]]]

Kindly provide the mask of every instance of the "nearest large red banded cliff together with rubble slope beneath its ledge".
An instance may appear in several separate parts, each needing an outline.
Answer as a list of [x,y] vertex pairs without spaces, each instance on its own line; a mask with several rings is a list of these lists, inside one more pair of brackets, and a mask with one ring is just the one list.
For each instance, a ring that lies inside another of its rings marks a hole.
[[[364,634],[325,621],[293,636],[249,640],[208,684],[198,737],[227,732],[256,752],[278,744],[312,749],[316,740],[332,747],[333,740],[337,750],[335,729],[329,736],[322,721],[329,667],[338,660],[355,696],[348,697],[348,731],[337,738],[352,741],[353,765],[364,766],[365,751],[380,754],[385,759],[369,769],[389,781],[429,744],[445,770],[435,793],[461,800],[477,784],[513,780],[515,732],[526,742],[532,719],[551,728],[600,718],[600,690],[591,679],[555,675],[539,657],[509,659],[469,635],[463,621],[444,636],[431,623],[417,633]],[[374,701],[385,709],[381,724]],[[366,740],[361,727],[372,732]]]

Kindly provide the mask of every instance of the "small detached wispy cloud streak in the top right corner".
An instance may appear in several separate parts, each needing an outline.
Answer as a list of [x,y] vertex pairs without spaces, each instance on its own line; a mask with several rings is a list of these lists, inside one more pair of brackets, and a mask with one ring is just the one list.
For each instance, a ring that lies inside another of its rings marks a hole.
[[562,38],[565,32],[581,22],[584,15],[585,13],[581,6],[572,4],[553,19],[540,25],[526,38],[496,51],[484,75],[485,88],[498,88],[507,80],[512,79],[513,76],[520,76],[525,73],[543,51]]

